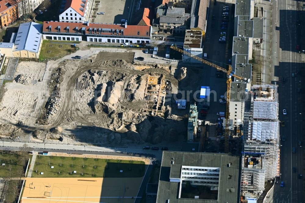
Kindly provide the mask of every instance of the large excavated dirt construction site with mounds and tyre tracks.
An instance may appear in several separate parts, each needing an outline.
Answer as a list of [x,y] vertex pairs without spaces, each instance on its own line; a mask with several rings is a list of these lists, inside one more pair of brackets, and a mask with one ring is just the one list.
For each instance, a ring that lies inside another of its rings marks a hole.
[[[5,129],[0,135],[31,134],[29,138],[38,142],[122,147],[151,143],[178,148],[185,141],[188,110],[177,111],[169,97],[156,116],[157,111],[147,109],[158,97],[144,93],[177,93],[178,83],[179,89],[189,89],[189,81],[199,77],[201,70],[187,75],[186,69],[177,71],[172,66],[131,64],[133,58],[133,52],[100,52],[88,60],[50,63],[48,100],[38,107],[35,86],[45,82],[41,82],[45,64],[20,63],[0,103],[0,131]],[[147,85],[149,78],[155,78],[156,85]],[[39,118],[30,117],[35,108],[42,108]]]

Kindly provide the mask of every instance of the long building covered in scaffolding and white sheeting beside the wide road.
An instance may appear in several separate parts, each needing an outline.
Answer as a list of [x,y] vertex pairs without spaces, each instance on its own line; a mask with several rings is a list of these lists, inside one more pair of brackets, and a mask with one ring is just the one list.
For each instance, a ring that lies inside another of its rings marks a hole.
[[277,87],[253,85],[245,102],[241,196],[258,198],[267,180],[278,175]]

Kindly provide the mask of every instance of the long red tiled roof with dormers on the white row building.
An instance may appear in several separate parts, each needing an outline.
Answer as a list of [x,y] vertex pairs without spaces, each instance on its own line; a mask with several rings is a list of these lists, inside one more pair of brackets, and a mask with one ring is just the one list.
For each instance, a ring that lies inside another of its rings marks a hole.
[[[51,26],[51,32],[58,32],[58,26],[60,26],[61,33],[67,33],[67,27],[70,28],[69,33],[76,33],[76,27],[78,27],[78,33],[81,34],[83,27],[86,28],[86,34],[90,34],[89,30],[92,28],[92,34],[94,34],[94,28],[96,28],[96,34],[99,34],[99,28],[101,29],[114,29],[114,35],[117,35],[117,29],[119,30],[118,35],[121,34],[121,30],[124,30],[124,36],[138,36],[138,37],[149,37],[150,36],[150,26],[142,25],[127,25],[125,28],[124,25],[106,25],[106,24],[95,24],[89,23],[66,23],[66,22],[43,22],[42,32],[49,32],[49,26]],[[139,34],[138,34],[139,32]],[[148,33],[148,35],[147,35]],[[113,35],[112,33],[102,32],[102,35]]]

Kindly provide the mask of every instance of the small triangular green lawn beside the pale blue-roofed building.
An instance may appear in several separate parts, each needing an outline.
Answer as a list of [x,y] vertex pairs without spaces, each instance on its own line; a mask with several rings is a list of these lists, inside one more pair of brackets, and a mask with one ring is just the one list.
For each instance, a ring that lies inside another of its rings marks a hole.
[[[51,46],[50,46],[51,45]],[[60,47],[63,46],[63,47]],[[48,53],[51,51],[51,53]],[[63,57],[76,51],[75,47],[67,44],[52,44],[49,40],[43,40],[39,59],[50,59],[53,57]]]

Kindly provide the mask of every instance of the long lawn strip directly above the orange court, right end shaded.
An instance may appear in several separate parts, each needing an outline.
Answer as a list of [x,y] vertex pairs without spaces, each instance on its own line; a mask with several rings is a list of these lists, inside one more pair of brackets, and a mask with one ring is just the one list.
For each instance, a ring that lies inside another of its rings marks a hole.
[[[38,163],[38,165],[37,165]],[[54,166],[51,169],[51,166]],[[106,168],[106,169],[105,169]],[[94,158],[59,157],[38,155],[32,177],[142,177],[145,173],[142,161],[107,160]],[[36,173],[37,170],[37,173]],[[120,173],[123,170],[123,173]],[[76,171],[76,173],[73,173]],[[43,175],[40,173],[43,172]]]

